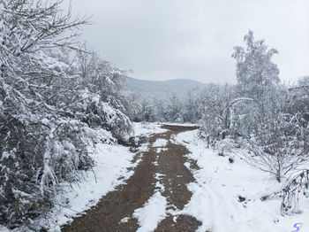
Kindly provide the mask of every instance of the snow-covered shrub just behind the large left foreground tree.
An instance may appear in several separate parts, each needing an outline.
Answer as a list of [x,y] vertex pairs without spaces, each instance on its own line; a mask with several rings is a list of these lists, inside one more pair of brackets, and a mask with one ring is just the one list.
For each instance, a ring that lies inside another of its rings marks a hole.
[[139,105],[122,96],[127,73],[94,52],[79,52],[78,73],[87,92],[80,94],[84,104],[79,106],[79,119],[89,127],[101,127],[111,131],[117,139],[125,139],[132,133],[132,116]]

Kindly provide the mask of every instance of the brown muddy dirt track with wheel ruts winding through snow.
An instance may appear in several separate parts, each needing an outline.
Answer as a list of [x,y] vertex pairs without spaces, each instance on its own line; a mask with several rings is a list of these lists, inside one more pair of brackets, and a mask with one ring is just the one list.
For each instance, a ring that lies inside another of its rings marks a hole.
[[[139,228],[138,220],[132,217],[134,210],[142,207],[155,192],[155,174],[162,174],[160,182],[164,185],[162,196],[168,201],[168,209],[182,210],[192,197],[186,184],[194,182],[191,172],[184,164],[190,161],[185,158],[189,153],[184,146],[173,143],[170,138],[177,133],[196,129],[194,127],[163,126],[169,131],[149,137],[148,151],[138,152],[136,159],[141,159],[135,167],[134,174],[123,185],[109,192],[98,205],[88,210],[82,217],[73,220],[62,231],[136,231]],[[166,151],[157,152],[153,143],[159,138],[168,140]],[[120,223],[128,217],[129,220]],[[188,215],[171,215],[162,220],[158,231],[195,231],[200,221]]]

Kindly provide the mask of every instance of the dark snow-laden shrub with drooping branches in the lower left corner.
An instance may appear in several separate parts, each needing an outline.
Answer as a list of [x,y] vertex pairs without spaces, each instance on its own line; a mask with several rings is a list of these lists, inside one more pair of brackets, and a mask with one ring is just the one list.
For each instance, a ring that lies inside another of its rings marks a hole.
[[85,125],[50,120],[23,125],[19,120],[1,123],[0,223],[11,227],[27,223],[52,205],[61,182],[79,180],[79,170],[93,161],[87,156]]

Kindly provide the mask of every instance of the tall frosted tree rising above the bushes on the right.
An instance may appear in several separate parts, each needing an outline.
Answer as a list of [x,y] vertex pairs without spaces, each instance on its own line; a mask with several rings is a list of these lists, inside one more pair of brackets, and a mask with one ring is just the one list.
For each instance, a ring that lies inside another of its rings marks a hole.
[[256,104],[256,115],[262,122],[267,115],[269,96],[279,83],[279,69],[272,58],[278,53],[268,50],[264,40],[255,41],[250,30],[244,37],[246,47],[234,47],[232,58],[237,60],[237,91],[240,97],[250,97]]

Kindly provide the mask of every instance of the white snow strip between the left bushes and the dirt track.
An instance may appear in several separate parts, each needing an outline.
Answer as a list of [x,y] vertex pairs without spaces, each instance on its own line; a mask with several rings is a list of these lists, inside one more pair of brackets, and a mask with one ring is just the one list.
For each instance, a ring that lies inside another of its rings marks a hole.
[[[94,173],[88,172],[85,180],[74,184],[72,189],[64,189],[63,197],[69,199],[69,204],[65,208],[56,206],[52,210],[51,217],[56,220],[56,225],[49,231],[60,231],[59,226],[71,222],[78,212],[84,212],[96,205],[101,197],[124,183],[133,174],[133,171],[129,172],[127,168],[136,166],[131,163],[133,156],[134,153],[131,153],[129,148],[115,144],[98,144],[91,154],[95,161]],[[124,178],[119,180],[119,177]]]

